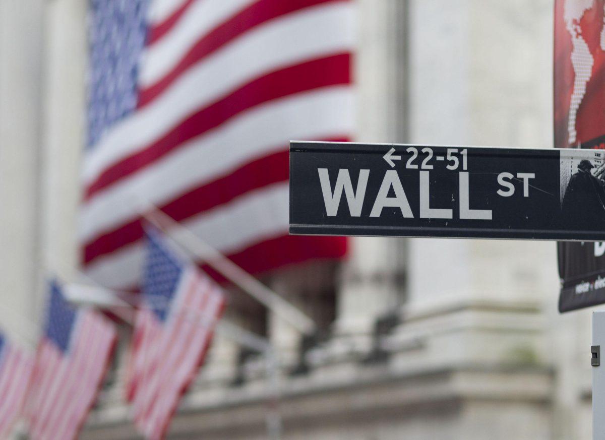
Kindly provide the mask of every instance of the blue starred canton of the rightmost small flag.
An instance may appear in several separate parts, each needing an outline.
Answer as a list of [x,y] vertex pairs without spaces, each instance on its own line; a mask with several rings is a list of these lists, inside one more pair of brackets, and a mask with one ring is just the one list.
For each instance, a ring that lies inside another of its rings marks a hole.
[[165,321],[185,264],[172,253],[158,231],[149,229],[145,235],[143,294],[155,315]]

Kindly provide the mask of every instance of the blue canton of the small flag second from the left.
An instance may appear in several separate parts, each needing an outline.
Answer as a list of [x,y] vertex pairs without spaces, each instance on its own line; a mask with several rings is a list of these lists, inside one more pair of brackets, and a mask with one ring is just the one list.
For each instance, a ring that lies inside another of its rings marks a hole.
[[44,333],[47,339],[53,341],[62,352],[66,352],[70,346],[75,321],[76,310],[65,300],[59,285],[54,281],[51,282]]

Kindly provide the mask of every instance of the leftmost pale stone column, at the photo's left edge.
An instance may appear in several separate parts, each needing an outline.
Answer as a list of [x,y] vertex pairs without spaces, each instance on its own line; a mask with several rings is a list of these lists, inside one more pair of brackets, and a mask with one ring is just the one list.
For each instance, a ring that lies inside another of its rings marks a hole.
[[39,212],[44,0],[0,0],[0,321],[32,345]]

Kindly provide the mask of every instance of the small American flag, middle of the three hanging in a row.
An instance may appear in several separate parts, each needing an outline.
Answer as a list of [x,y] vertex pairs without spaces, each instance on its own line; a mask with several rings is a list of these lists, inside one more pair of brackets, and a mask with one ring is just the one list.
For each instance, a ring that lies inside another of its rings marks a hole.
[[44,334],[36,353],[27,416],[32,439],[76,438],[105,375],[116,331],[90,309],[74,309],[50,285]]

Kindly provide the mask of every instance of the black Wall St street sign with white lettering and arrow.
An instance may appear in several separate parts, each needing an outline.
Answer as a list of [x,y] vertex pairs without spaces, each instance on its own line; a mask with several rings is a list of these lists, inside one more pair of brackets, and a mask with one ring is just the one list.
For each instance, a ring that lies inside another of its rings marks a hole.
[[290,233],[605,240],[605,152],[290,143]]

